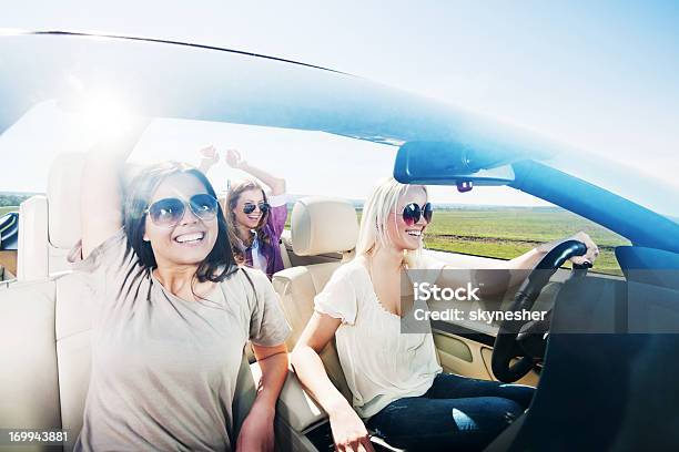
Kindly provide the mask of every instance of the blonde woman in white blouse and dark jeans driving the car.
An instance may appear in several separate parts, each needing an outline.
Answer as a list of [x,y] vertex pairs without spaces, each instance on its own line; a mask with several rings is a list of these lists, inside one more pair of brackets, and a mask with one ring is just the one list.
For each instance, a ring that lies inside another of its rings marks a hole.
[[[402,333],[402,271],[434,270],[438,281],[444,267],[420,255],[430,220],[424,186],[394,179],[378,186],[363,209],[356,258],[340,267],[316,296],[315,312],[293,351],[295,371],[330,414],[341,451],[373,450],[365,424],[408,451],[482,450],[531,400],[530,387],[443,373],[430,332]],[[588,245],[577,263],[594,261],[591,239],[582,233],[575,238]],[[555,245],[544,244],[506,268],[533,268]],[[353,407],[318,356],[333,337]]]

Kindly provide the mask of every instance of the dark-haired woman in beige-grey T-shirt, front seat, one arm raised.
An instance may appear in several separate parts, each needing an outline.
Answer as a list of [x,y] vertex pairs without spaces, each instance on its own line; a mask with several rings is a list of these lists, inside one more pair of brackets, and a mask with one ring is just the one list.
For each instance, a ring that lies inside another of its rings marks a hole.
[[[290,332],[277,297],[264,275],[237,266],[196,168],[146,167],[122,203],[119,174],[139,132],[98,146],[83,170],[82,245],[72,257],[81,254],[74,267],[95,301],[75,450],[273,451]],[[232,402],[249,340],[262,379],[235,444]]]

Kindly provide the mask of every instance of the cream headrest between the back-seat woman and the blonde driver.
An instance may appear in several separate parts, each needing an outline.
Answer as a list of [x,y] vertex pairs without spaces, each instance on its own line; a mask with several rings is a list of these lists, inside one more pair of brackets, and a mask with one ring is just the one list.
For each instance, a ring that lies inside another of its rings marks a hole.
[[356,209],[346,199],[304,197],[293,207],[292,246],[297,256],[351,251],[356,247]]

